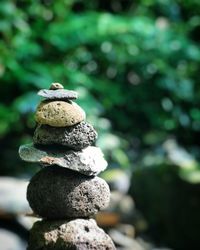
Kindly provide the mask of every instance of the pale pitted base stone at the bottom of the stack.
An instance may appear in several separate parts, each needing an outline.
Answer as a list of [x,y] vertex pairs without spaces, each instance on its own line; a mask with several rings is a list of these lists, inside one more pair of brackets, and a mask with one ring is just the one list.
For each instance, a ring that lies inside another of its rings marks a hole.
[[38,221],[30,231],[27,250],[115,250],[95,220]]

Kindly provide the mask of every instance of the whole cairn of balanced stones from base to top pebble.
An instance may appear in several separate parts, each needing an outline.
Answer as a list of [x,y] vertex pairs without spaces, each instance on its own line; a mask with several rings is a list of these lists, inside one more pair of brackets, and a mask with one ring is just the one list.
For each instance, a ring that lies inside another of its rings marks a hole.
[[72,100],[77,93],[59,83],[38,92],[33,144],[19,155],[42,169],[30,180],[27,200],[37,221],[28,250],[113,250],[111,238],[91,217],[108,206],[110,190],[97,177],[107,167],[103,153],[92,146],[97,132],[85,121],[84,110]]

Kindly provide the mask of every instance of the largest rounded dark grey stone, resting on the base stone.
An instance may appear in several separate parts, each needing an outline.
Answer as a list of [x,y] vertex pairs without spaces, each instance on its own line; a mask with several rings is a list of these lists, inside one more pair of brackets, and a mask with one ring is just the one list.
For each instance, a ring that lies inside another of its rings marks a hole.
[[27,200],[33,211],[43,218],[89,217],[108,206],[110,190],[99,177],[52,166],[31,179]]

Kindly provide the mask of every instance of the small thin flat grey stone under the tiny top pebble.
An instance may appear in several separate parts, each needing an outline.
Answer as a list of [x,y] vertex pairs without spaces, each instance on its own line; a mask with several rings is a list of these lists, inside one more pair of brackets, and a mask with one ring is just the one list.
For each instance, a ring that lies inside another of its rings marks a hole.
[[78,98],[77,92],[67,89],[42,89],[38,92],[38,95],[49,100],[73,100]]

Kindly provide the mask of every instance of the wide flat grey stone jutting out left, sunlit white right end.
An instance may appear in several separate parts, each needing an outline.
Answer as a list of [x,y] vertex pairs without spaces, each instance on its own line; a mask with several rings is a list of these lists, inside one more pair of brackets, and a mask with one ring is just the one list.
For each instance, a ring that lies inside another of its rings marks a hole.
[[55,147],[39,148],[33,144],[26,144],[20,146],[19,155],[24,161],[44,166],[57,165],[89,176],[97,175],[107,167],[101,149],[94,146],[73,151]]

